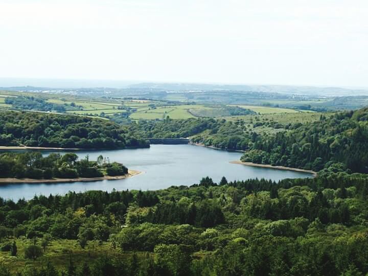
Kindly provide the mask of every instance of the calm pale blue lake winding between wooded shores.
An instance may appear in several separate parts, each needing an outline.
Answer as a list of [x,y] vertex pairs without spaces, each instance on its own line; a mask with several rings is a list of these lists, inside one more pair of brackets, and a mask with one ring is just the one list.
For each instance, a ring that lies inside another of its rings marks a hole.
[[[44,155],[55,151],[42,151]],[[64,151],[58,151],[64,153]],[[70,151],[68,151],[70,152]],[[22,183],[0,185],[0,196],[18,200],[30,199],[35,194],[63,195],[68,191],[87,190],[158,190],[170,186],[190,186],[202,177],[210,176],[219,182],[222,176],[228,181],[248,178],[266,178],[278,181],[284,178],[311,177],[309,173],[231,164],[239,160],[240,152],[228,152],[193,145],[151,145],[148,149],[74,151],[80,158],[87,154],[90,160],[99,155],[109,157],[110,162],[123,163],[142,173],[120,180],[102,180],[73,183]]]

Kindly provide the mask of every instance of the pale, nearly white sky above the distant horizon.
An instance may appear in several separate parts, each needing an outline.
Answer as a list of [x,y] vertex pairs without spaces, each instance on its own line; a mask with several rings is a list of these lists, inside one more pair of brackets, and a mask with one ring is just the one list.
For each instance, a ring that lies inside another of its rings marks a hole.
[[0,78],[368,87],[367,14],[366,0],[0,0]]

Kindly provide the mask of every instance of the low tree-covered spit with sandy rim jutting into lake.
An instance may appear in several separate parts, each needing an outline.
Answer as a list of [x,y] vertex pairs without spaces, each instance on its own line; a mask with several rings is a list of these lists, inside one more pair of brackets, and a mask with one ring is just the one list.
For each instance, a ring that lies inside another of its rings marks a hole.
[[0,154],[0,183],[112,180],[139,173],[123,164],[110,163],[109,158],[102,155],[92,161],[88,155],[78,160],[75,153],[51,153],[45,157],[40,152]]

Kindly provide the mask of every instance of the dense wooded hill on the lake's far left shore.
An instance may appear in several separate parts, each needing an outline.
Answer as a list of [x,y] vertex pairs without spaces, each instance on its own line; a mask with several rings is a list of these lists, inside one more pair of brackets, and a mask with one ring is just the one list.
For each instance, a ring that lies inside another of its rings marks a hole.
[[0,114],[0,146],[149,147],[149,142],[139,133],[107,120],[16,111]]

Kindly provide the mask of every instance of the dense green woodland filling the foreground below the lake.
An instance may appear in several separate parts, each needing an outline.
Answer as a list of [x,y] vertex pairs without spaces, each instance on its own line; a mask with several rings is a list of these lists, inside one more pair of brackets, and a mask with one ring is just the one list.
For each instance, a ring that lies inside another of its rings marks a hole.
[[367,196],[366,175],[323,172],[2,199],[0,275],[363,275]]

